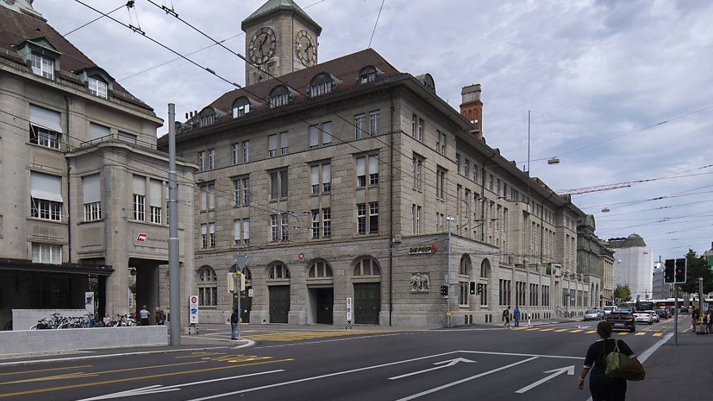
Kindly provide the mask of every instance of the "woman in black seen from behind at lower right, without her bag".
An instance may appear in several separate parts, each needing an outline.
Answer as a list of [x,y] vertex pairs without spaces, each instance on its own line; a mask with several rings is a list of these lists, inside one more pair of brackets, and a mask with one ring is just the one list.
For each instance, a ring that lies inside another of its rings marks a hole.
[[597,334],[600,340],[596,340],[587,350],[587,357],[580,373],[577,387],[584,390],[584,380],[591,370],[589,377],[589,391],[592,393],[592,401],[623,401],[626,399],[626,380],[621,377],[607,377],[604,372],[607,369],[606,357],[619,342],[619,352],[632,359],[636,358],[629,345],[622,340],[612,339],[612,324],[604,321],[597,325]]

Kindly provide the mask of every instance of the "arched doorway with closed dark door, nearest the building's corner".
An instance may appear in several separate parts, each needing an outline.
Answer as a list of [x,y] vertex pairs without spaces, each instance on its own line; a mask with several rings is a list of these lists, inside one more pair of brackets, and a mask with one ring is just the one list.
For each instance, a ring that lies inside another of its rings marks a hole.
[[369,256],[356,260],[354,283],[354,323],[378,325],[381,312],[381,268]]

